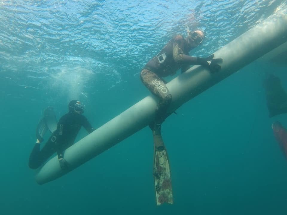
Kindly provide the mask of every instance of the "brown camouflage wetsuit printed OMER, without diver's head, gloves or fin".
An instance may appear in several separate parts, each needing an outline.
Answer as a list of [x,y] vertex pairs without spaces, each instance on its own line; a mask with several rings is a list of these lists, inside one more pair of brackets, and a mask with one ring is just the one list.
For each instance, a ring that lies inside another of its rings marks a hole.
[[183,36],[172,38],[141,70],[141,81],[156,96],[161,98],[156,108],[155,121],[161,123],[167,117],[167,108],[172,96],[162,77],[172,76],[178,69],[186,71],[190,64],[201,65],[197,57],[189,56],[191,48]]

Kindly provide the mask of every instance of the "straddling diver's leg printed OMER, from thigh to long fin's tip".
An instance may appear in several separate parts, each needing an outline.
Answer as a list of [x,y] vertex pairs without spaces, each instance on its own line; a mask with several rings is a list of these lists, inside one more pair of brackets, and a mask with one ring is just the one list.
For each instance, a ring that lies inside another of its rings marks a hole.
[[167,108],[171,103],[172,96],[167,86],[155,73],[144,69],[141,71],[141,80],[153,94],[161,98],[155,110],[155,121],[149,125],[155,147],[153,175],[156,204],[162,205],[164,202],[173,204],[170,165],[161,136],[161,124],[168,116]]

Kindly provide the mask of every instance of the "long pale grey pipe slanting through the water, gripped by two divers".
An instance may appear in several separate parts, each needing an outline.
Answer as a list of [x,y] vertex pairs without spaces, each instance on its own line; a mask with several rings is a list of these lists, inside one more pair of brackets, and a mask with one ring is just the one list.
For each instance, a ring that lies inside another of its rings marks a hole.
[[[286,12],[287,8],[280,10],[216,51],[215,58],[223,59],[219,73],[211,74],[204,67],[196,66],[169,82],[167,87],[172,94],[169,112],[286,42]],[[44,184],[57,179],[141,130],[154,118],[156,105],[157,99],[153,96],[142,99],[68,148],[65,151],[65,159],[71,165],[69,170],[62,170],[55,156],[38,169],[36,181]]]

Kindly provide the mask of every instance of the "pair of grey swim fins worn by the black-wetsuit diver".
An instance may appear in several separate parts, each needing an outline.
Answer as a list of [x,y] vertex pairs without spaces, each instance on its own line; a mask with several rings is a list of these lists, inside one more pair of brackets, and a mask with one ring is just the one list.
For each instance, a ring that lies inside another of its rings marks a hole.
[[43,137],[47,132],[47,130],[53,133],[56,129],[57,129],[56,114],[53,108],[48,107],[44,110],[44,116],[40,120],[36,128],[36,137],[40,142],[42,142],[44,140]]

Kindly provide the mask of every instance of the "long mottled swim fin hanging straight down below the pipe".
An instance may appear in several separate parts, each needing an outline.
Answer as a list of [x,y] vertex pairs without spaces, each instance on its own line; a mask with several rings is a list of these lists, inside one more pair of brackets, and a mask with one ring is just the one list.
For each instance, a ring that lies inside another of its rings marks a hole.
[[152,133],[155,144],[153,176],[156,204],[162,205],[164,202],[173,204],[170,164],[161,137],[161,124],[155,123]]

